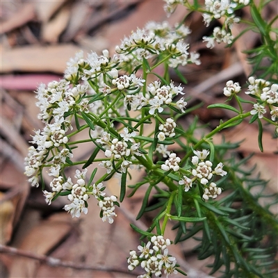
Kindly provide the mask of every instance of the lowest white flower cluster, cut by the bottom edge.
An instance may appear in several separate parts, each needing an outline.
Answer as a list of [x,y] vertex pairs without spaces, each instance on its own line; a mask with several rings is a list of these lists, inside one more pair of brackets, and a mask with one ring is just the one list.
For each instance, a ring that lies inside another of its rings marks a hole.
[[[138,278],[150,278],[152,275],[161,277],[163,270],[168,277],[171,274],[177,274],[176,258],[169,254],[167,246],[171,244],[169,238],[163,236],[152,236],[151,240],[144,246],[139,245],[140,255],[135,250],[129,252],[129,270],[134,270],[138,265],[145,270],[145,274],[139,275]],[[151,247],[152,245],[152,247]]]

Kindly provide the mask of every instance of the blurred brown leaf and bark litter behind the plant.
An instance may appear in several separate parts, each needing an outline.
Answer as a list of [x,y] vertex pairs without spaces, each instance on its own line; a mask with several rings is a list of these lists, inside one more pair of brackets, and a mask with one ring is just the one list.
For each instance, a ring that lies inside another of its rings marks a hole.
[[[275,13],[277,7],[273,5],[277,2],[274,2],[265,10],[265,18]],[[110,225],[101,221],[99,210],[94,210],[96,204],[90,204],[88,215],[72,219],[63,211],[66,199],[48,206],[42,190],[28,184],[23,174],[24,156],[33,131],[43,128],[37,117],[34,91],[40,83],[63,78],[67,60],[76,51],[82,49],[85,54],[90,51],[101,54],[103,49],[108,49],[113,54],[115,45],[120,44],[124,35],[128,36],[151,20],[168,20],[174,25],[183,19],[186,9],[179,7],[167,18],[162,0],[9,0],[1,1],[0,5],[0,240],[1,245],[6,246],[0,250],[0,277],[136,277],[140,272],[127,271],[126,257],[129,250],[136,250],[140,243],[129,222],[135,223],[143,192],[131,201],[125,199],[117,211],[117,219]],[[240,16],[249,17],[248,13],[243,10]],[[206,28],[202,15],[197,13],[186,19],[186,25],[192,30],[188,39],[190,51],[201,54],[202,64],[181,68],[188,79],[185,92],[191,98],[190,105],[204,101],[204,106],[188,117],[198,115],[202,123],[212,127],[229,115],[218,109],[208,110],[206,106],[225,100],[222,88],[229,79],[246,83],[251,67],[242,51],[259,43],[258,35],[246,33],[231,49],[224,45],[206,49],[202,37],[210,35],[213,26],[219,24],[221,22],[215,22]],[[235,26],[233,31],[234,35],[238,34],[240,26]],[[170,74],[179,82],[174,72]],[[268,184],[269,192],[277,192],[277,157],[272,153],[275,141],[271,131],[266,130],[263,137],[263,154],[257,146],[256,126],[243,123],[224,135],[231,142],[245,139],[237,150],[238,156],[254,153],[247,167],[256,164],[256,173],[260,171],[262,177],[272,179]],[[220,137],[215,138],[215,142],[220,141]],[[80,157],[90,156],[92,146],[80,152]],[[140,175],[137,174],[136,179],[140,179]],[[117,194],[117,181],[111,181],[108,189]],[[145,229],[149,219],[152,219],[152,213],[136,225]],[[167,236],[174,238],[172,233],[169,229]],[[188,272],[188,277],[209,277],[206,265],[210,261],[197,261],[193,252],[195,245],[194,241],[188,240],[174,246],[171,254]],[[60,259],[56,267],[49,256]]]

